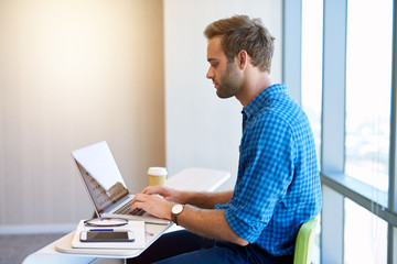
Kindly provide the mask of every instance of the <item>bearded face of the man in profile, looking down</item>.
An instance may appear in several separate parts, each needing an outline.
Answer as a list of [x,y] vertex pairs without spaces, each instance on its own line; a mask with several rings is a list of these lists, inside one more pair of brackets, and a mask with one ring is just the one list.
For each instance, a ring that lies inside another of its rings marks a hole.
[[243,88],[243,73],[238,70],[235,61],[227,62],[221,45],[221,36],[212,37],[208,41],[207,61],[210,69],[206,77],[213,80],[216,95],[219,98],[236,96]]

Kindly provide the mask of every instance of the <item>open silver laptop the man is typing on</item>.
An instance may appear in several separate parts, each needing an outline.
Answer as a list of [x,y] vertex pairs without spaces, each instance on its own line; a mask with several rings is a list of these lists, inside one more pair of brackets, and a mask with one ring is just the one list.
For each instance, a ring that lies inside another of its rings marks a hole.
[[128,191],[106,141],[73,151],[72,156],[98,217],[170,223],[143,210],[129,212],[133,195]]

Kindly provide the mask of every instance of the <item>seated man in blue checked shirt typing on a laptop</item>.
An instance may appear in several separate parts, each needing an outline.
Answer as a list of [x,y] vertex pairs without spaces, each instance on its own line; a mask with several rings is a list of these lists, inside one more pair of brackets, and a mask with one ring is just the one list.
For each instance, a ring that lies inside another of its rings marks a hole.
[[[292,263],[300,224],[321,210],[313,135],[307,116],[272,85],[273,37],[260,20],[210,24],[206,74],[219,98],[243,105],[235,188],[187,193],[147,187],[131,204],[187,231],[163,235],[131,263]],[[162,196],[162,198],[160,196]]]

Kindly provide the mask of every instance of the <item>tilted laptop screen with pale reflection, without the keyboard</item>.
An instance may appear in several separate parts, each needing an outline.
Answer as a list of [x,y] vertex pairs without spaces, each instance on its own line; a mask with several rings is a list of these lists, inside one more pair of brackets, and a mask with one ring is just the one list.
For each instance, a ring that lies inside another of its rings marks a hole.
[[72,154],[98,213],[107,211],[108,207],[129,194],[105,141],[79,148]]

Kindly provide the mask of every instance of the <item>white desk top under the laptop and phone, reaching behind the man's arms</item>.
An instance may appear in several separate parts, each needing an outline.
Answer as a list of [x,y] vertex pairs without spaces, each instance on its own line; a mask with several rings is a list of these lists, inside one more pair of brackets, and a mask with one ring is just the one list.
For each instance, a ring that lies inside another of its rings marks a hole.
[[[181,190],[213,191],[224,184],[230,174],[223,170],[207,168],[186,168],[165,182],[165,186]],[[147,248],[153,243],[171,224],[146,223],[146,230],[153,235],[147,234]],[[106,263],[124,263],[125,258],[133,257],[144,250],[95,250],[95,249],[73,249],[72,239],[74,232],[66,234],[57,241],[44,246],[43,249],[26,256],[23,264],[33,263],[100,263],[104,258]]]

